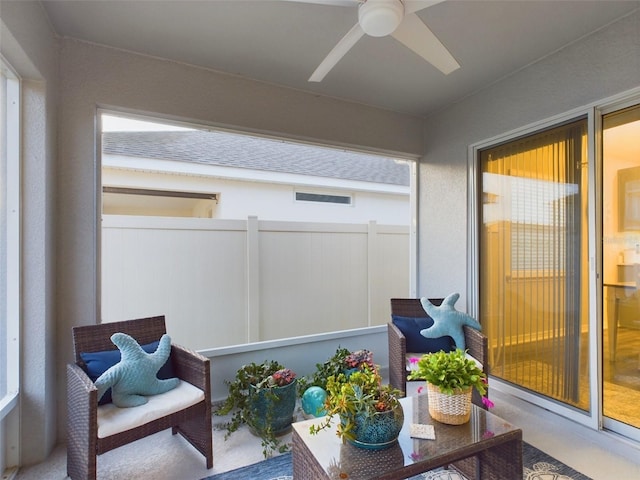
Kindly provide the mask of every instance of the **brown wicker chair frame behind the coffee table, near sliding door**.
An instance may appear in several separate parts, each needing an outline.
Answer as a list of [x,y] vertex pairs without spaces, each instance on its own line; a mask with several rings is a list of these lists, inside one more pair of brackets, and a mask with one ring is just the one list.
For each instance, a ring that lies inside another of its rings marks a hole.
[[[434,305],[440,305],[443,300],[442,298],[430,299]],[[413,318],[424,318],[428,316],[422,308],[419,298],[392,298],[391,314]],[[467,326],[463,328],[467,352],[482,364],[483,370],[488,374],[489,366],[487,361],[489,354],[487,337],[473,328]],[[389,340],[389,383],[406,394],[408,375],[406,338],[393,322],[389,322],[387,331]],[[485,408],[482,403],[482,396],[475,389],[473,391],[473,403]]]

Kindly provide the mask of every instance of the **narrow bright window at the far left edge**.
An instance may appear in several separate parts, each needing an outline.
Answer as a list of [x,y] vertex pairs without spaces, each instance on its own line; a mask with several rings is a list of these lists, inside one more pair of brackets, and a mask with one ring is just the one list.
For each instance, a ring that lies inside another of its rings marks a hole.
[[0,58],[0,473],[6,467],[5,417],[18,393],[19,83]]

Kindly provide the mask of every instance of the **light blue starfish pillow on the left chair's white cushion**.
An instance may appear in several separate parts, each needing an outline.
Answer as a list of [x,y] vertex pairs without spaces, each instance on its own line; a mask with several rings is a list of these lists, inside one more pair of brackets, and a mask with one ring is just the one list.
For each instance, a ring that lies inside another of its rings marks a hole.
[[117,407],[137,407],[147,403],[146,396],[168,392],[178,386],[177,378],[160,380],[156,377],[171,353],[171,338],[164,334],[153,353],[145,352],[136,340],[126,333],[114,333],[111,341],[121,354],[120,362],[100,375],[95,385],[98,400],[111,388]]

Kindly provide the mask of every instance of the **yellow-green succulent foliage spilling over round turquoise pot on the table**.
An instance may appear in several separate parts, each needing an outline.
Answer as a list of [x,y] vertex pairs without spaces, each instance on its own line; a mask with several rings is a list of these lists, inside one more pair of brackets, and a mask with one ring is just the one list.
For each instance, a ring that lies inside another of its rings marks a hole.
[[373,416],[378,412],[387,412],[396,408],[402,395],[400,390],[383,384],[376,366],[363,363],[353,373],[339,373],[327,378],[327,416],[320,424],[311,425],[312,434],[329,428],[331,420],[339,415],[337,434],[343,439],[354,440],[353,429],[356,417]]

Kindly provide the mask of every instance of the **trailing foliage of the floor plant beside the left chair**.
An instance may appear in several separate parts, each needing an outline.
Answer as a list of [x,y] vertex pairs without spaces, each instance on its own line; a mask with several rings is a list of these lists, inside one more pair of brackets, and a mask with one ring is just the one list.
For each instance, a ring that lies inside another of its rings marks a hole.
[[273,451],[280,453],[287,451],[288,445],[282,444],[276,436],[278,432],[273,431],[271,425],[273,409],[267,408],[265,412],[256,412],[251,396],[262,391],[266,398],[277,402],[279,398],[275,388],[284,387],[294,381],[296,381],[295,372],[276,361],[250,363],[238,369],[233,381],[225,381],[229,394],[222,406],[214,412],[215,415],[227,415],[233,412],[231,419],[224,424],[227,429],[225,440],[241,425],[246,424],[262,438],[262,453],[265,457],[270,456]]

